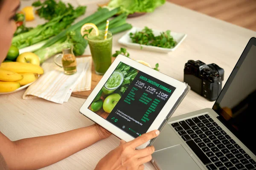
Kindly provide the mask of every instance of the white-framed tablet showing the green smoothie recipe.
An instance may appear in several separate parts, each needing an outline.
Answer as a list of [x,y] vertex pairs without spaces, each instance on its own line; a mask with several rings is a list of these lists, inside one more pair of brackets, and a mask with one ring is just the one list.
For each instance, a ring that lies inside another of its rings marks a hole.
[[119,55],[79,112],[128,142],[161,130],[189,89],[184,82]]

